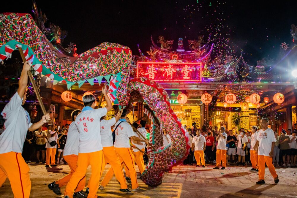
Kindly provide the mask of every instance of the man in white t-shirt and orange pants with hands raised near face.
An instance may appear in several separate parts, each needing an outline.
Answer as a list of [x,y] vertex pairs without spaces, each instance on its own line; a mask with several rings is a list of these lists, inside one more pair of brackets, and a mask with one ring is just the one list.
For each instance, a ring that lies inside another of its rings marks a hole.
[[222,170],[225,169],[226,167],[226,151],[227,151],[227,147],[226,147],[226,140],[227,140],[227,134],[225,133],[225,127],[221,126],[220,128],[220,133],[216,139],[216,141],[218,142],[218,146],[217,146],[217,165],[216,167],[214,167],[214,169],[219,169],[219,166],[221,165],[221,161],[222,161]]

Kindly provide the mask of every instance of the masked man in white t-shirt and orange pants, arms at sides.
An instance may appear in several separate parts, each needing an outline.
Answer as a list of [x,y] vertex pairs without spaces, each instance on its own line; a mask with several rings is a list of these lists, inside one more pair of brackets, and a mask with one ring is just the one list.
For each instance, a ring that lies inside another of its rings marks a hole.
[[205,159],[204,159],[204,151],[206,147],[206,139],[203,135],[200,134],[200,130],[196,131],[196,136],[193,137],[192,140],[192,151],[194,151],[194,156],[197,162],[196,167],[200,166],[200,158],[201,165],[205,167]]

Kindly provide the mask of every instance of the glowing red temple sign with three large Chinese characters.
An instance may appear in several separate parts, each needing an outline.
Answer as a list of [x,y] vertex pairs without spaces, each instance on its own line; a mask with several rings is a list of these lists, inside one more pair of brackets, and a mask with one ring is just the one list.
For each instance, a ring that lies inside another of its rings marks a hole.
[[202,63],[138,62],[137,77],[155,81],[201,82]]

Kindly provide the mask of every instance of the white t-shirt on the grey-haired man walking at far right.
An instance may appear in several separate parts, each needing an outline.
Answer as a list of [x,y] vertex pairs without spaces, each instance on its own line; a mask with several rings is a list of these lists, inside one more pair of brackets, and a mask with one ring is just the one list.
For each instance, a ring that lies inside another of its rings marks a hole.
[[273,130],[267,128],[263,131],[260,129],[257,140],[259,141],[258,155],[269,156],[271,143],[276,142]]

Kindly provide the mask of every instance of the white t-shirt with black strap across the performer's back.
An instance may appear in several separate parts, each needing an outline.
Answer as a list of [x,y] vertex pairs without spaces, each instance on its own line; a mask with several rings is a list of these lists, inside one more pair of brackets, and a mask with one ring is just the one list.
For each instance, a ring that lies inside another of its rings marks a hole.
[[[114,125],[115,127],[121,122],[121,119]],[[133,129],[126,121],[122,122],[115,131],[116,141],[115,148],[130,148],[129,137],[135,136]]]

